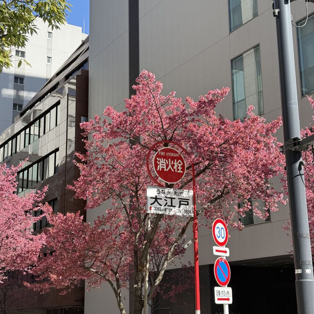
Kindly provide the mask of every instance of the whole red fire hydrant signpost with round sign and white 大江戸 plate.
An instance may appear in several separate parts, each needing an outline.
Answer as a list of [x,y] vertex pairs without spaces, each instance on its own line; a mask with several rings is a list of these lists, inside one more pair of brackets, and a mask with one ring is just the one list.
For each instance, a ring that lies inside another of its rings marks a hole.
[[[157,149],[158,146],[163,147]],[[169,147],[169,145],[175,146]],[[156,151],[153,157],[153,168],[158,179],[166,184],[175,184],[183,179],[185,175],[185,161],[182,153],[187,151],[178,143],[173,141],[159,141],[148,151],[146,167],[156,186],[147,187],[147,212],[169,215],[191,215],[193,216],[193,243],[194,243],[194,279],[195,279],[195,314],[201,314],[200,304],[200,276],[198,259],[198,222],[196,213],[196,189],[195,189],[195,168],[191,164],[193,191],[176,190],[164,187],[154,178],[150,170],[150,155]],[[180,151],[179,151],[180,150]],[[193,193],[193,207],[191,208],[191,193]]]

